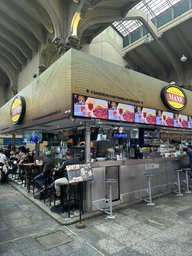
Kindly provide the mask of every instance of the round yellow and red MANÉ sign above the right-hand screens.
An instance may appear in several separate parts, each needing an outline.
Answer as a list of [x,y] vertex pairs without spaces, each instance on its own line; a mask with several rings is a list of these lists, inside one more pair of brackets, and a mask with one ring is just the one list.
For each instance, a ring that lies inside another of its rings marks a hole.
[[161,90],[161,100],[164,106],[172,110],[182,110],[186,107],[186,93],[176,85],[165,86]]

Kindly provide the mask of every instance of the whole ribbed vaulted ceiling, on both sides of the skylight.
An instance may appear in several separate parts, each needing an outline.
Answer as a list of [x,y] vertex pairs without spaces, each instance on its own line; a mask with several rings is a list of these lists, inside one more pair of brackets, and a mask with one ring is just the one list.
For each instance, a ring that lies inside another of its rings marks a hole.
[[[40,51],[38,68],[49,67],[44,52],[63,54],[70,47],[93,38],[113,22],[138,19],[148,26],[145,17],[132,15],[130,10],[140,1],[134,0],[0,0],[0,86],[17,93],[17,77],[36,52]],[[191,10],[190,10],[191,12]],[[180,18],[174,26],[159,28],[152,35],[152,43],[143,38],[122,51],[132,69],[169,81],[175,72],[177,81],[184,81],[187,67],[191,67],[191,13]],[[183,51],[188,61],[180,63]],[[185,78],[186,79],[186,78]],[[190,80],[190,77],[189,79]],[[189,81],[188,81],[189,82]]]

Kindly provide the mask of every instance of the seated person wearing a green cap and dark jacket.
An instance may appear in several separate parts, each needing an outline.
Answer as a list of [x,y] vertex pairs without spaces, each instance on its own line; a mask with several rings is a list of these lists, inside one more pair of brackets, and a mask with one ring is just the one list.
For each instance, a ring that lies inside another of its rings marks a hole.
[[45,153],[45,157],[43,159],[43,164],[42,164],[42,170],[43,172],[36,175],[35,178],[34,178],[34,182],[40,186],[40,192],[44,191],[45,190],[45,186],[42,182],[42,179],[44,177],[44,172],[46,170],[50,170],[54,168],[54,158],[51,156],[51,151],[47,151]]

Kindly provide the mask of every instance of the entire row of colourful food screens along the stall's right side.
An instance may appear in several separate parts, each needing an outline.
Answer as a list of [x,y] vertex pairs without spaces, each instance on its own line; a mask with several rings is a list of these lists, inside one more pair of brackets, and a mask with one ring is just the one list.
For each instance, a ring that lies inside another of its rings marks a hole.
[[74,94],[74,116],[192,129],[192,116]]

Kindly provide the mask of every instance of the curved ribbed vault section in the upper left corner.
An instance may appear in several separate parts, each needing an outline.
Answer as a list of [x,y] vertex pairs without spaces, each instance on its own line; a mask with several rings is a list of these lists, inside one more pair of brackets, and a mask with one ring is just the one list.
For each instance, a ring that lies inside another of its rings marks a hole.
[[45,44],[47,33],[54,33],[54,27],[36,0],[0,0],[0,24],[0,76],[8,77],[10,88],[17,92],[17,72],[37,52],[38,44]]

